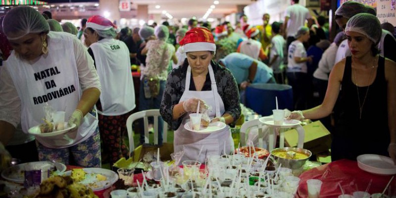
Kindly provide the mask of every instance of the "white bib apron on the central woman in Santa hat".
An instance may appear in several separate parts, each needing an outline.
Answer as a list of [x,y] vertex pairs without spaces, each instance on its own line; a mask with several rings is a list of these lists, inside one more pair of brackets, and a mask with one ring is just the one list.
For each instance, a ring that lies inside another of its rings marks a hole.
[[[217,92],[216,81],[212,66],[209,64],[209,76],[212,84],[211,91],[190,91],[190,79],[191,79],[191,67],[187,68],[186,75],[186,89],[179,102],[190,99],[198,98],[206,102],[206,104],[212,106],[212,110],[208,113],[210,118],[220,117],[225,112],[224,103],[220,95]],[[213,110],[214,109],[214,110]],[[183,158],[180,162],[185,160],[197,160],[205,162],[205,157],[211,154],[220,155],[224,151],[224,144],[226,153],[230,153],[234,149],[234,141],[231,137],[230,127],[227,125],[222,131],[212,134],[198,134],[188,131],[184,128],[184,124],[190,121],[189,114],[183,117],[182,124],[179,129],[175,131],[174,137],[174,151],[178,152],[184,150]],[[199,150],[203,146],[201,154]]]

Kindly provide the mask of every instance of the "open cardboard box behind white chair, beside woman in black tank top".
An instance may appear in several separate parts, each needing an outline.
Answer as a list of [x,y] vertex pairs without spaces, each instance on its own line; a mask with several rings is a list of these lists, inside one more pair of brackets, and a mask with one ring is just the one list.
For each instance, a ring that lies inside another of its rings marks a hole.
[[[317,154],[330,149],[331,135],[325,126],[318,120],[303,126],[305,130],[304,146],[312,154]],[[297,147],[298,134],[295,129],[285,132],[285,145]]]

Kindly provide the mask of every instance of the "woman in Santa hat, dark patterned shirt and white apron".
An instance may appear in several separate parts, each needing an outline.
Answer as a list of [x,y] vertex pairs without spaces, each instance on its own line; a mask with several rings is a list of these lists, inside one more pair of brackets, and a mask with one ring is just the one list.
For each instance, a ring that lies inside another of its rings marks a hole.
[[181,162],[204,162],[211,154],[230,154],[234,142],[228,126],[216,133],[198,134],[186,130],[184,124],[189,121],[189,114],[197,111],[199,100],[200,111],[211,106],[208,115],[212,122],[236,121],[241,115],[237,83],[228,69],[211,61],[216,46],[206,28],[191,29],[180,45],[188,62],[169,74],[160,107],[163,119],[175,130],[174,151],[185,151]]

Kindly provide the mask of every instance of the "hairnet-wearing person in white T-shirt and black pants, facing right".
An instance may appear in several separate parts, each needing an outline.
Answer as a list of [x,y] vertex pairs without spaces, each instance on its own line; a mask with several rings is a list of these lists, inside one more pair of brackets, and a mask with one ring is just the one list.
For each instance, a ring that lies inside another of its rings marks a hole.
[[288,49],[288,68],[286,75],[289,85],[293,87],[293,101],[295,109],[306,108],[310,81],[308,78],[308,68],[306,63],[312,62],[312,57],[307,56],[304,42],[309,40],[309,29],[301,26],[295,36],[296,41],[292,42]]

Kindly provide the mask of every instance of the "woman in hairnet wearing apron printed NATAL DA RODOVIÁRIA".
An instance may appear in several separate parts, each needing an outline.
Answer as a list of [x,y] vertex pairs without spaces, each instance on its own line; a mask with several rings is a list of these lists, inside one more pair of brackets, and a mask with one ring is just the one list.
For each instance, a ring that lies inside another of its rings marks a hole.
[[100,167],[98,119],[89,112],[101,87],[84,46],[70,34],[49,31],[43,15],[28,6],[11,9],[2,27],[14,50],[0,73],[0,141],[7,144],[19,121],[28,133],[50,121],[50,112],[65,111],[67,125],[75,127],[37,136],[39,159]]

